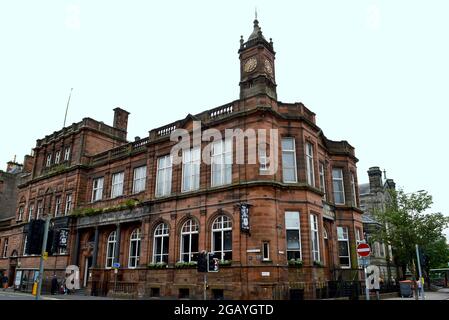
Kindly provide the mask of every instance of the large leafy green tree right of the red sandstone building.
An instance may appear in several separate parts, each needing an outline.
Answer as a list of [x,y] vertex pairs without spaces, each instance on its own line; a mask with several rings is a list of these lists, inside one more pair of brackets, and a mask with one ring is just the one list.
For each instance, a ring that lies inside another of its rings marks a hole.
[[392,246],[393,257],[403,276],[407,266],[415,271],[416,244],[421,248],[440,248],[432,244],[444,237],[449,217],[426,213],[432,204],[432,196],[426,191],[407,194],[403,190],[390,190],[385,208],[373,213],[380,223],[373,238]]

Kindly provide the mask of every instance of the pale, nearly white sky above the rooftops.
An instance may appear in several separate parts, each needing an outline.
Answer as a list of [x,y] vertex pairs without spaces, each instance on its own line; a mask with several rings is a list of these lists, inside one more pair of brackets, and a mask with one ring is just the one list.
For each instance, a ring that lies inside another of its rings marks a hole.
[[[2,1],[0,163],[91,117],[131,112],[128,138],[238,99],[240,35],[254,8],[273,38],[278,98],[303,102],[333,140],[449,214],[449,2]],[[449,232],[448,232],[449,235]]]

